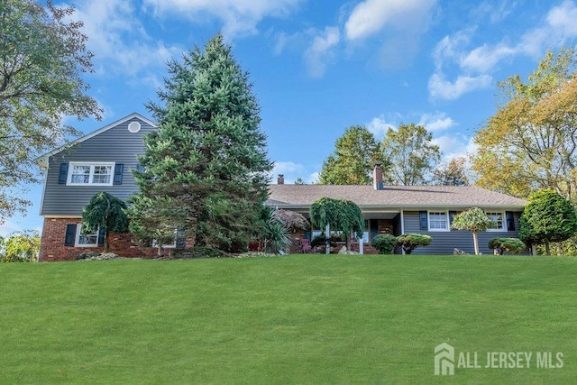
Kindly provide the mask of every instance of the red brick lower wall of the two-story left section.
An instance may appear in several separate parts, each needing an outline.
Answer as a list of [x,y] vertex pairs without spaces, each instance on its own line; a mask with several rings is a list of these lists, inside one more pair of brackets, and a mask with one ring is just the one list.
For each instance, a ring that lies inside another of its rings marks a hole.
[[[78,225],[80,218],[45,218],[42,225],[40,261],[76,261],[81,252],[102,252],[104,247],[70,247],[64,245],[66,225]],[[158,249],[141,247],[134,241],[133,234],[110,234],[109,252],[128,258],[152,258]],[[187,242],[187,247],[191,244]],[[169,249],[164,250],[165,253]]]

